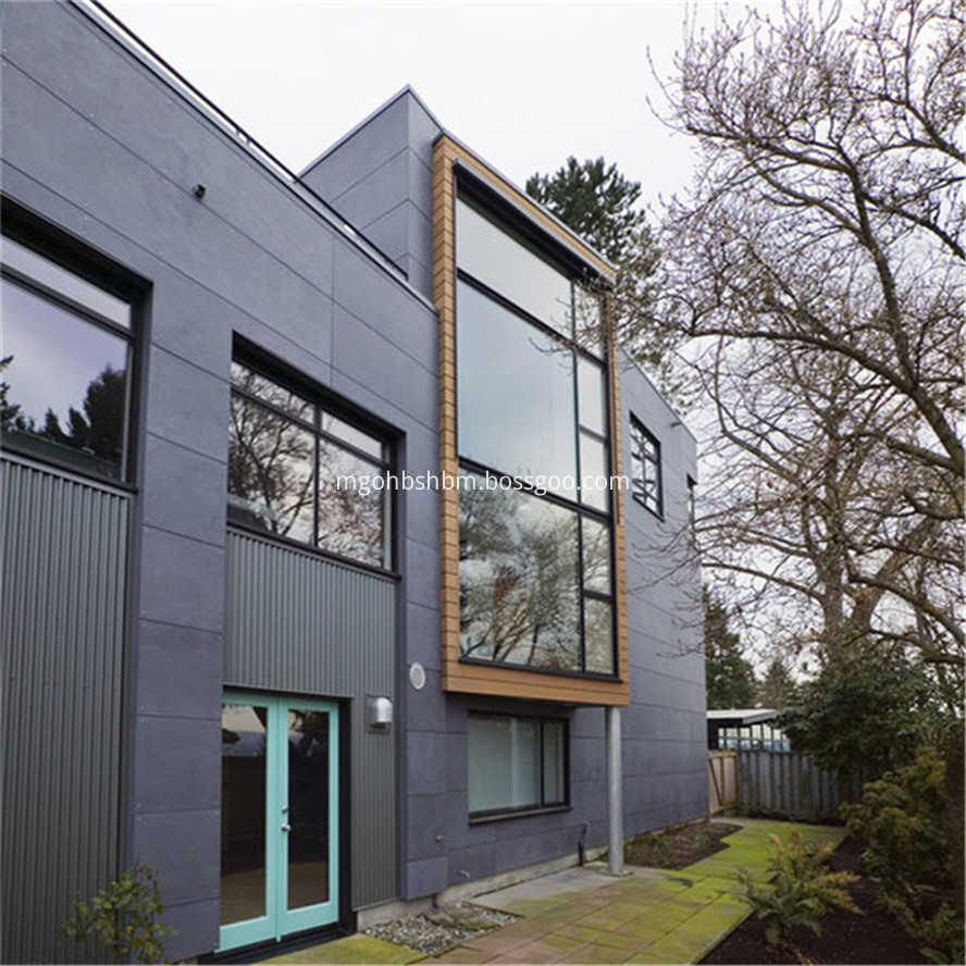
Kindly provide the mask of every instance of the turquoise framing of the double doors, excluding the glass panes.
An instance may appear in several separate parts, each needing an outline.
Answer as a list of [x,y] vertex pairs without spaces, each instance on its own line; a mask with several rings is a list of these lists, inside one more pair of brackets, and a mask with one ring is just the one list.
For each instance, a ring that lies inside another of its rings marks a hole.
[[[265,904],[253,919],[219,927],[218,953],[338,924],[342,914],[342,782],[343,742],[337,702],[294,694],[225,689],[222,704],[263,707],[265,728]],[[323,711],[329,715],[329,899],[298,909],[288,908],[288,713]],[[285,810],[283,810],[285,809]]]

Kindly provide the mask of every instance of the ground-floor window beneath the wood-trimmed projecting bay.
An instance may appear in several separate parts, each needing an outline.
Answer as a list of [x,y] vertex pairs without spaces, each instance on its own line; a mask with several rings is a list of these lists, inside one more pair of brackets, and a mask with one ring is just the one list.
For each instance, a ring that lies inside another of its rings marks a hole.
[[567,722],[470,715],[470,817],[567,804]]

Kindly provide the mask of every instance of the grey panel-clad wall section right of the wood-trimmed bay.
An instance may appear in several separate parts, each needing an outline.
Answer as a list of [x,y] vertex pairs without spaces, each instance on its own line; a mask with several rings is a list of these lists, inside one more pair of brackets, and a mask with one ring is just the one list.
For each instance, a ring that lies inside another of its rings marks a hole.
[[660,443],[664,519],[626,494],[631,705],[623,718],[624,830],[637,834],[707,815],[701,574],[689,540],[694,437],[649,380],[621,368],[624,473],[630,418]]

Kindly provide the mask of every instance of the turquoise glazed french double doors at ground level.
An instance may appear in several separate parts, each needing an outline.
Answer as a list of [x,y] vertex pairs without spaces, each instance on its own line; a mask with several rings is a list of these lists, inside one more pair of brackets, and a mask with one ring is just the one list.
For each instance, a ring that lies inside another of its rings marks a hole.
[[226,693],[219,950],[335,922],[338,851],[337,706]]

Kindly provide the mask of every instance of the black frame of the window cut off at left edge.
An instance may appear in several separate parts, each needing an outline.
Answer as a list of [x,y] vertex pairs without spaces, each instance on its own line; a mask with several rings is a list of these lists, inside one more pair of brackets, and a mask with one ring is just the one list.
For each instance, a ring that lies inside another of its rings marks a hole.
[[[53,270],[52,275],[47,275],[41,267],[40,272],[35,275],[30,272],[29,265],[16,263],[16,256],[13,263],[0,258],[0,275],[3,280],[123,342],[127,354],[124,424],[121,430],[121,459],[116,475],[101,472],[94,466],[85,466],[81,460],[61,458],[55,453],[45,453],[32,446],[21,445],[15,437],[9,435],[2,441],[2,449],[59,471],[75,473],[82,479],[136,492],[135,481],[139,466],[139,400],[146,343],[145,301],[150,284],[5,196],[0,199],[0,212],[3,221],[2,244],[5,246],[7,243],[13,243],[24,249],[28,256],[46,262]],[[59,288],[55,284],[60,274],[69,276],[65,289]],[[41,275],[44,277],[40,277]],[[85,299],[83,287],[69,290],[70,276],[112,299],[124,302],[127,306],[127,324],[112,319],[104,311],[99,311],[91,301]],[[83,450],[78,450],[81,451]]]

